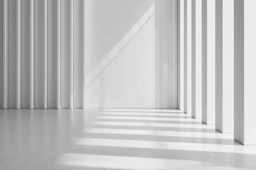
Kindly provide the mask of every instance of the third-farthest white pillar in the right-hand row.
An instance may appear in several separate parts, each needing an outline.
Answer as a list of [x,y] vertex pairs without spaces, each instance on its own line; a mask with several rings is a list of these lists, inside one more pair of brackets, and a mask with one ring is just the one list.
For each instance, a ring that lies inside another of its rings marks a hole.
[[202,0],[192,0],[192,117],[202,117]]

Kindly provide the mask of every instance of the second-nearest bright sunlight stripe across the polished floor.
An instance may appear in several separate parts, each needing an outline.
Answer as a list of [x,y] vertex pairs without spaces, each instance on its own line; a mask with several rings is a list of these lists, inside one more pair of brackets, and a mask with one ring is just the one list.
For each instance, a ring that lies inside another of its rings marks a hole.
[[[112,140],[112,139],[76,139],[76,145],[93,145],[103,147],[131,147],[144,149],[169,149],[196,152],[222,152],[238,154],[256,154],[256,146],[245,147],[243,145],[215,145],[207,143],[189,142],[159,142],[145,140]],[[174,151],[173,151],[174,152]]]

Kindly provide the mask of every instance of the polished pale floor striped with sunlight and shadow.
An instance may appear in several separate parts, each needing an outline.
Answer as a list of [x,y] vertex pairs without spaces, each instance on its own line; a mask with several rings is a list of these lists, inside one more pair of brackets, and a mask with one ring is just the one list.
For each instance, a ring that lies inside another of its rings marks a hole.
[[176,110],[0,110],[0,169],[256,169],[256,146]]

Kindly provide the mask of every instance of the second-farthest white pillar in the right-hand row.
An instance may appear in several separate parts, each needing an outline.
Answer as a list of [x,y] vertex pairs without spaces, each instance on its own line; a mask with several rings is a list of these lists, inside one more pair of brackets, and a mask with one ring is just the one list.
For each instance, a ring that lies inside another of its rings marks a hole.
[[191,114],[191,0],[184,1],[184,112]]

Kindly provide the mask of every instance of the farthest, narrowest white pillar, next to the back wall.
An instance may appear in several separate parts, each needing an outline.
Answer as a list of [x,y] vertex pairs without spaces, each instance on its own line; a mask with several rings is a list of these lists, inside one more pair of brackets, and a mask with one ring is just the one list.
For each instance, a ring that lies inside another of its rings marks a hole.
[[178,1],[178,109],[184,110],[184,0]]

